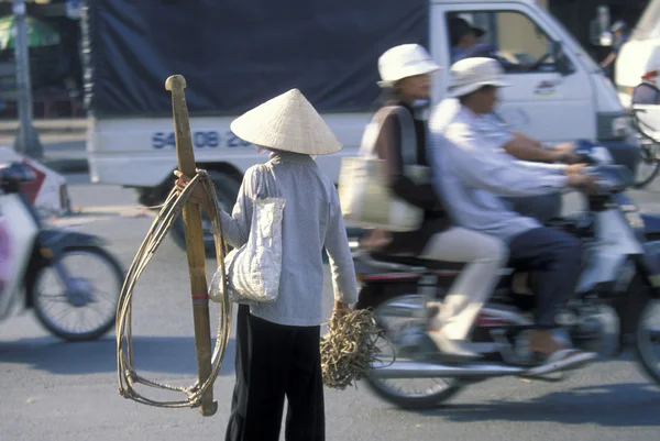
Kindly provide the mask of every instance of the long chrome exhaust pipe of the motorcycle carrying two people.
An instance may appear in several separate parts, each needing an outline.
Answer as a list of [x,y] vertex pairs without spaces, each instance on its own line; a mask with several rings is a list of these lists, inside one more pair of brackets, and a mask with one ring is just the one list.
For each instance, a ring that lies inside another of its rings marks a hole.
[[420,362],[395,362],[383,367],[375,366],[369,375],[374,378],[483,378],[507,375],[520,375],[522,367],[506,366],[495,363],[466,363],[447,365]]

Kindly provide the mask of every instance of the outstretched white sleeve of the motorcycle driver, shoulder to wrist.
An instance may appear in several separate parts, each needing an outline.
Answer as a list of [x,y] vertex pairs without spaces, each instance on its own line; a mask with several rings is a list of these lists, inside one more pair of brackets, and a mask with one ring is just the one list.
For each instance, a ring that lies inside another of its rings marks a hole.
[[471,187],[498,196],[536,196],[569,184],[568,177],[562,175],[564,165],[512,161],[507,153],[484,146],[483,140],[466,123],[451,123],[442,134],[435,136],[432,144],[448,155],[449,164]]

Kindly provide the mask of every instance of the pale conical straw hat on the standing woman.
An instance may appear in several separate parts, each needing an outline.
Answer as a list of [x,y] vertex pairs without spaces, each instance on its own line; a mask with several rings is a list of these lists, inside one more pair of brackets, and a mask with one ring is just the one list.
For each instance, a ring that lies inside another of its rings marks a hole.
[[298,89],[245,112],[231,131],[255,145],[305,155],[329,155],[342,148],[334,133]]

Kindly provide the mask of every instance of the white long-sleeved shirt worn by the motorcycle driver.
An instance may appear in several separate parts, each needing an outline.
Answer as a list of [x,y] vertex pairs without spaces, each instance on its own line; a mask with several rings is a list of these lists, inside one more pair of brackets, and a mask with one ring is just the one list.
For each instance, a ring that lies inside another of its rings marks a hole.
[[518,161],[504,145],[513,139],[492,132],[492,122],[446,100],[430,122],[429,164],[433,185],[461,227],[509,242],[541,227],[510,211],[502,196],[536,196],[566,186],[565,165]]

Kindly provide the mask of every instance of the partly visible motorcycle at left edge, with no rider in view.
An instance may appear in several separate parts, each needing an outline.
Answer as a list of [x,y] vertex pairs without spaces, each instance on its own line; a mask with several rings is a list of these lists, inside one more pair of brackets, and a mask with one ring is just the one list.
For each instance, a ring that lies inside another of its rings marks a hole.
[[124,272],[100,238],[42,225],[21,192],[35,178],[26,165],[0,164],[0,321],[34,309],[63,340],[98,339],[114,324]]

